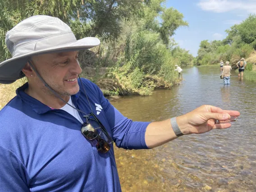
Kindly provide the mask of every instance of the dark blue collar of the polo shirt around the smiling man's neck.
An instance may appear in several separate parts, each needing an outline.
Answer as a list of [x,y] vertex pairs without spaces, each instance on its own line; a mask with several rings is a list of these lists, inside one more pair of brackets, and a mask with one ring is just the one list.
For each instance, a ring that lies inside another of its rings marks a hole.
[[[16,90],[16,94],[22,101],[30,105],[32,110],[34,110],[38,114],[44,114],[50,110],[53,110],[49,106],[41,103],[41,101],[38,101],[34,97],[27,95],[27,93],[24,92],[27,89],[27,87],[28,87],[28,83],[26,82],[23,86],[18,87],[18,89]],[[76,103],[79,96],[80,96],[80,90],[78,91],[77,94],[71,96],[71,100],[73,101],[73,103]]]

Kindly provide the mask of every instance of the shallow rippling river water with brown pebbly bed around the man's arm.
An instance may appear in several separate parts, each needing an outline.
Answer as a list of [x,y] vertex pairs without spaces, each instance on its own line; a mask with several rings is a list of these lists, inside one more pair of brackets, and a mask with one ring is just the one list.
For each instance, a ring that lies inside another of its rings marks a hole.
[[232,128],[189,135],[151,150],[115,147],[124,192],[255,192],[256,86],[232,73],[230,85],[219,68],[183,70],[184,82],[152,96],[120,97],[111,103],[135,121],[159,121],[209,104],[239,110]]

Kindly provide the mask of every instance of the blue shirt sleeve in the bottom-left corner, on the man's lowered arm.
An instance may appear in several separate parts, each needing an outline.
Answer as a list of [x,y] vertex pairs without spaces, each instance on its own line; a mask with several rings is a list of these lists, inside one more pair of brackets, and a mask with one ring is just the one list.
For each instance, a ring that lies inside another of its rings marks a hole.
[[0,146],[0,191],[29,192],[27,169],[18,157]]

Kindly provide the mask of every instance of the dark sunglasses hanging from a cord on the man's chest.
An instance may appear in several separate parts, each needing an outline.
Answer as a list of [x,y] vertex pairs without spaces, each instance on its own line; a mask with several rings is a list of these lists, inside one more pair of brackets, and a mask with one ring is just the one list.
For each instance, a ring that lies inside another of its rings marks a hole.
[[114,143],[105,127],[93,113],[86,115],[86,123],[82,125],[81,132],[88,140],[97,141],[96,148],[101,153],[110,151],[110,144]]

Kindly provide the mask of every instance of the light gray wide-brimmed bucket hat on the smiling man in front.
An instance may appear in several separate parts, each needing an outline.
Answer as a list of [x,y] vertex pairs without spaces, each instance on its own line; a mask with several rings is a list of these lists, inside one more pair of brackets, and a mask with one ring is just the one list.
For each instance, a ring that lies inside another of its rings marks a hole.
[[70,27],[59,18],[37,15],[8,31],[5,43],[13,57],[0,63],[2,84],[23,78],[21,70],[32,55],[85,50],[100,45],[100,40],[95,37],[77,40]]

